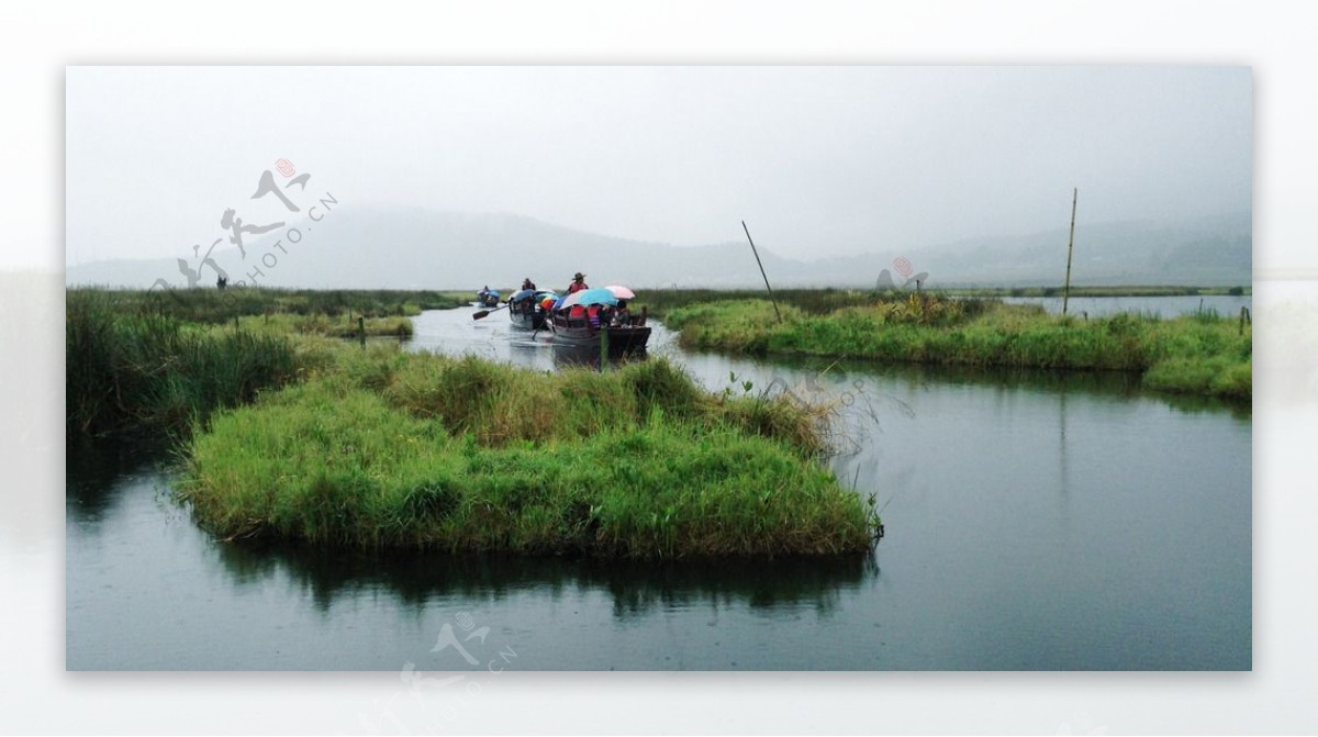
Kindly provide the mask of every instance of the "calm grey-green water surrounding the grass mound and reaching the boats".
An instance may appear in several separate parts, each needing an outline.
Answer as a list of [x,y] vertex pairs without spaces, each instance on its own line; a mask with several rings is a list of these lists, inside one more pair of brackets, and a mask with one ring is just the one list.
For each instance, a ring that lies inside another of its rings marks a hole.
[[[552,370],[494,314],[413,347]],[[1251,667],[1251,414],[1123,376],[882,369],[673,353],[709,388],[845,405],[838,476],[883,506],[873,556],[605,564],[212,542],[169,476],[70,448],[72,670]],[[825,370],[828,369],[828,370]]]

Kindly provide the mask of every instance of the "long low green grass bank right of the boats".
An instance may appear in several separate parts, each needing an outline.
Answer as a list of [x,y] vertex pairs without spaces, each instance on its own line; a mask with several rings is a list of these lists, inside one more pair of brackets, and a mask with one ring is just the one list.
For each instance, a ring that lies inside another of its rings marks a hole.
[[886,363],[1141,372],[1151,389],[1248,399],[1252,327],[1213,311],[1161,320],[1118,314],[1077,319],[1039,306],[909,295],[826,314],[767,301],[673,310],[687,348],[869,359]]

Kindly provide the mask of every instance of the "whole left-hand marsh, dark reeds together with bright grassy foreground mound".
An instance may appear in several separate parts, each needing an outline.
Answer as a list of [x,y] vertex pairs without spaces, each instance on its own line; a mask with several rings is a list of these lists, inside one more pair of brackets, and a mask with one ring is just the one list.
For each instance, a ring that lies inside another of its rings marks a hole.
[[175,438],[179,498],[219,538],[667,559],[863,552],[879,530],[821,463],[828,407],[664,360],[536,373],[150,299],[70,293],[70,432]]

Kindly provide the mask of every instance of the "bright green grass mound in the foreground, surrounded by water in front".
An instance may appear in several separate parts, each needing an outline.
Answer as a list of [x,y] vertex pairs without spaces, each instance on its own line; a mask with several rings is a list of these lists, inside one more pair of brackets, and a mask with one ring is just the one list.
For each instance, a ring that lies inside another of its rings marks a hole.
[[[818,417],[663,360],[532,373],[376,347],[225,413],[182,484],[216,535],[626,558],[870,550]],[[807,438],[811,442],[801,443]]]

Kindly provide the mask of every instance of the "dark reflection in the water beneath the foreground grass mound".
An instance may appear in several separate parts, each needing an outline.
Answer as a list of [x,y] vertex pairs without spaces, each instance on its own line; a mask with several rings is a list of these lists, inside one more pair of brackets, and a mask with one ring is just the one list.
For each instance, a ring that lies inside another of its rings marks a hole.
[[287,543],[214,547],[216,560],[243,587],[289,580],[328,612],[336,600],[387,593],[401,605],[460,597],[506,601],[518,592],[573,600],[606,592],[616,618],[656,609],[776,609],[808,606],[826,613],[842,595],[878,576],[873,555],[829,559],[637,562],[593,558],[449,555],[432,551],[344,552]]

